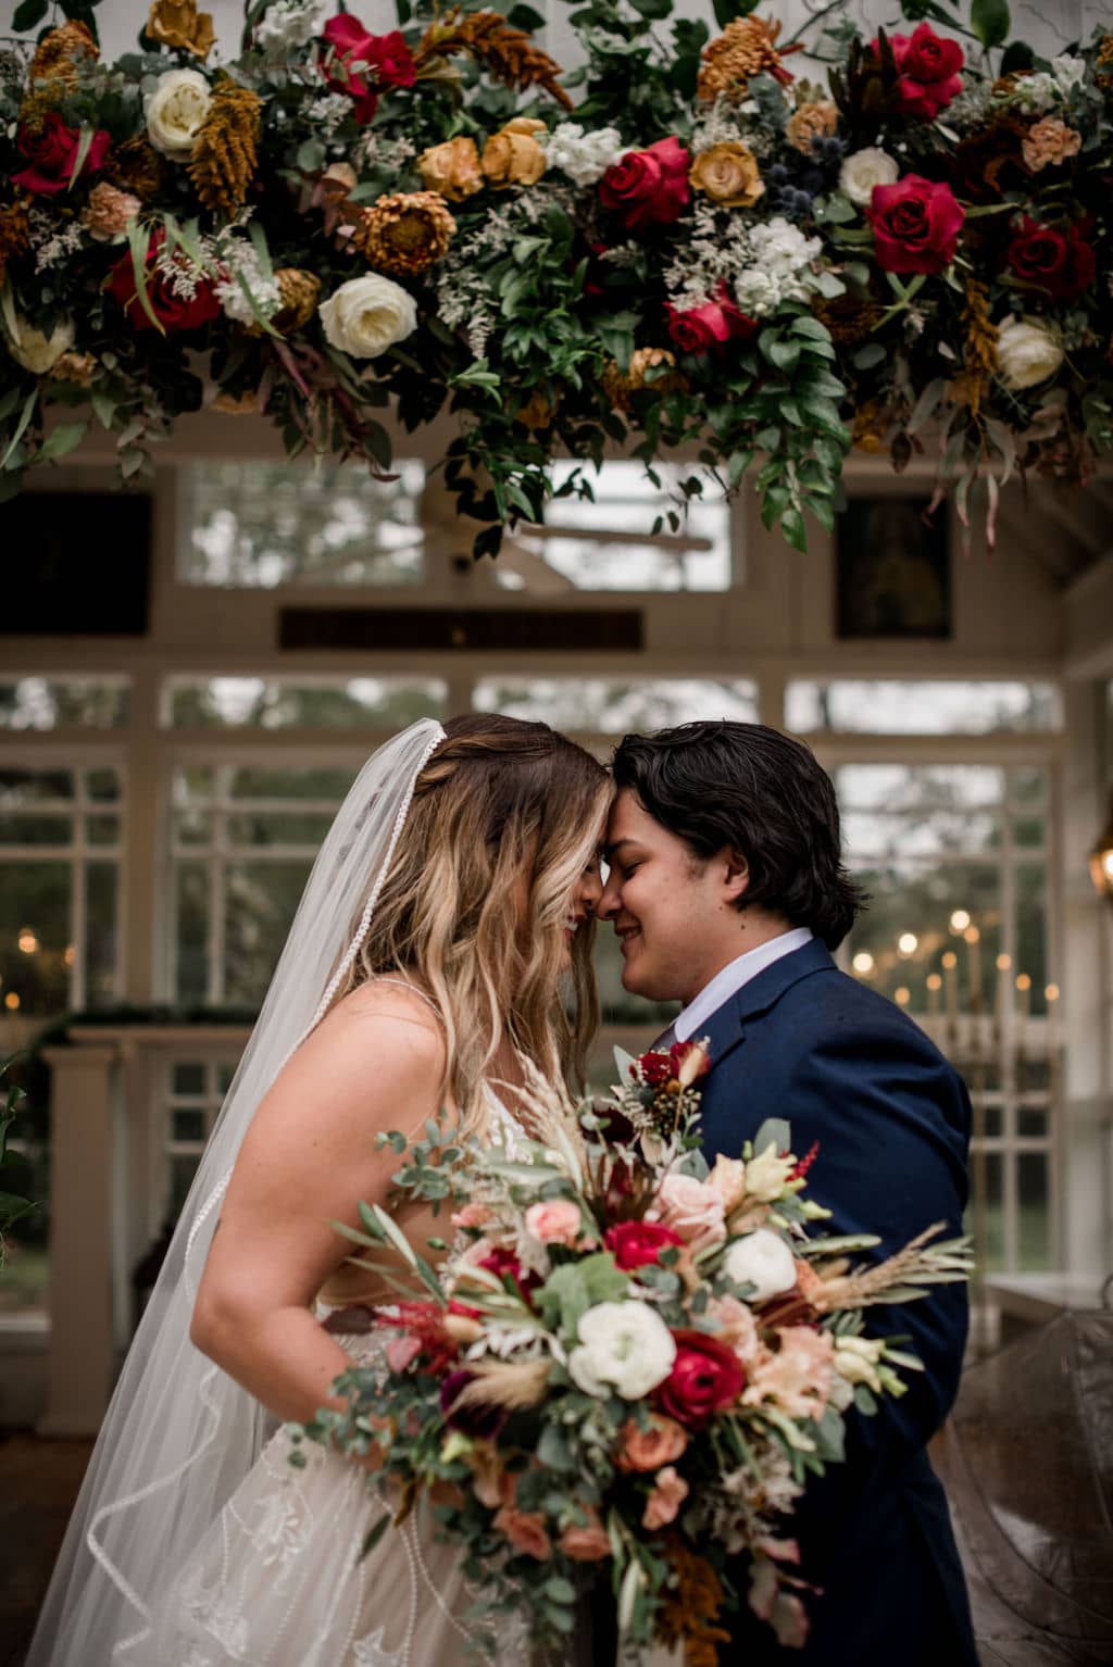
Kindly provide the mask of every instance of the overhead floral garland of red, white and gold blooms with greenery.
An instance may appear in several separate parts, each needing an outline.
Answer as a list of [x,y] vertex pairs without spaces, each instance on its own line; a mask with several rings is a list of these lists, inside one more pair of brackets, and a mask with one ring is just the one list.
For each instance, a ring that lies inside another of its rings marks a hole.
[[223,63],[195,0],[105,63],[92,5],[0,52],[0,497],[90,423],[125,477],[203,405],[385,472],[382,408],[448,408],[477,553],[606,447],[753,482],[803,548],[851,443],[938,443],[990,537],[1013,470],[1113,445],[1113,35],[1043,62],[1005,0],[905,0],[866,40],[835,0],[820,85],[751,0],[713,38],[588,0],[568,75],[525,5],[255,0]]

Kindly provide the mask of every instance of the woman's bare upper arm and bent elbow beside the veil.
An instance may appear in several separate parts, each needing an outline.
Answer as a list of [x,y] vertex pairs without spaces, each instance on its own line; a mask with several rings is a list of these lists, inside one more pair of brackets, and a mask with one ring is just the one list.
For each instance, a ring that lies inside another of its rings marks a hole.
[[350,1245],[330,1220],[358,1225],[382,1204],[398,1157],[375,1135],[415,1129],[440,1109],[445,1045],[413,997],[357,990],[308,1037],[258,1107],[208,1252],[190,1339],[275,1417],[337,1405],[348,1367],[312,1302]]

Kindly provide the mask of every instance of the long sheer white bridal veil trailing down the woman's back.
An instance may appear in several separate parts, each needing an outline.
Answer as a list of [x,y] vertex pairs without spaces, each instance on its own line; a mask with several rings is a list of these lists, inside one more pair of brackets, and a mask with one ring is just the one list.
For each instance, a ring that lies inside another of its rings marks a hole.
[[427,718],[380,747],[320,849],[108,1407],[27,1667],[155,1667],[152,1599],[258,1455],[263,1409],[190,1344],[197,1284],[255,1107],[355,960],[418,772],[443,738]]

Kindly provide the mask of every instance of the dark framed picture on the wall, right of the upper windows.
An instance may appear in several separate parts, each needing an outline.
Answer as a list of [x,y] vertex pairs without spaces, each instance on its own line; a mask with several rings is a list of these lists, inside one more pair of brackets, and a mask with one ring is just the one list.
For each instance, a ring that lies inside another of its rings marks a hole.
[[946,510],[926,497],[851,498],[835,523],[835,635],[950,637]]

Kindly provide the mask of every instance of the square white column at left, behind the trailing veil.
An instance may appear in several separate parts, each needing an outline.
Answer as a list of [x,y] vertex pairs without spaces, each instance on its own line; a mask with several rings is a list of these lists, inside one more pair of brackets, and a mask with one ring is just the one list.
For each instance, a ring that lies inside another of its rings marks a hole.
[[118,1049],[52,1047],[50,1350],[42,1435],[95,1435],[117,1370],[113,1079]]

